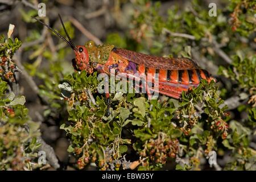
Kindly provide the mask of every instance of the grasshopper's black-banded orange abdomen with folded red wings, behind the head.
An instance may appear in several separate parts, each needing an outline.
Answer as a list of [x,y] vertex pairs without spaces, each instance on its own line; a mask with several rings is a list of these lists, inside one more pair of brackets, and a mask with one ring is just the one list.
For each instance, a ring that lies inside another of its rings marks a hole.
[[196,87],[202,79],[208,82],[214,80],[191,59],[149,56],[117,48],[110,53],[108,61],[105,64],[97,64],[96,69],[108,75],[110,69],[115,69],[115,73],[151,74],[152,82],[155,79],[154,74],[158,73],[159,90],[154,91],[174,98],[180,98],[182,91]]

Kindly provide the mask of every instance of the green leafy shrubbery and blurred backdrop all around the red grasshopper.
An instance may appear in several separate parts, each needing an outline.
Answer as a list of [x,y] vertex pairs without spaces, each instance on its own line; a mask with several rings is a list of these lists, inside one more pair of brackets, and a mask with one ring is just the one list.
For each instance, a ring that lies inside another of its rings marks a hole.
[[[72,49],[31,18],[40,2],[41,19],[64,35],[61,14],[76,45],[191,57],[217,83],[202,82],[180,101],[113,94],[104,117],[96,73],[74,73]],[[256,169],[254,1],[40,2],[0,0],[1,170]],[[209,16],[212,2],[217,16]]]

